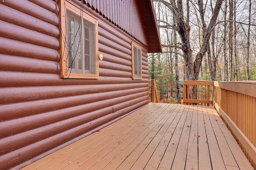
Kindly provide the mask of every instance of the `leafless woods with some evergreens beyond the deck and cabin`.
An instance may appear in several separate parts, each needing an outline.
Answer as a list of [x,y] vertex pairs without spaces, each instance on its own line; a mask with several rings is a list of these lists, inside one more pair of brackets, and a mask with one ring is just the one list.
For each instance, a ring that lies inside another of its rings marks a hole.
[[180,80],[256,80],[255,0],[154,0],[163,53],[149,55],[160,100]]

